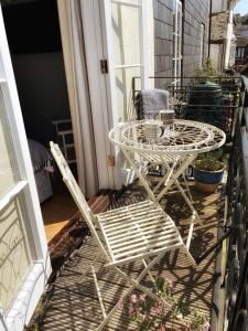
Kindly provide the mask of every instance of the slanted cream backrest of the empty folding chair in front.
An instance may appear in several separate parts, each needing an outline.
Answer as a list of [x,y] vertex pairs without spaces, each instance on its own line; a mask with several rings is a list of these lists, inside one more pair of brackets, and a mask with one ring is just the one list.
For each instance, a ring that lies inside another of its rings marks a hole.
[[106,255],[106,258],[109,259],[109,255],[107,254],[105,247],[103,246],[103,243],[97,234],[96,231],[96,217],[94,216],[94,213],[91,212],[89,205],[87,204],[60,147],[57,143],[54,143],[53,141],[50,141],[51,152],[54,157],[54,160],[57,163],[57,167],[62,173],[63,181],[65,182],[66,186],[68,188],[79,212],[82,213],[84,220],[86,221],[96,243],[98,244],[99,248],[103,250],[103,253]]

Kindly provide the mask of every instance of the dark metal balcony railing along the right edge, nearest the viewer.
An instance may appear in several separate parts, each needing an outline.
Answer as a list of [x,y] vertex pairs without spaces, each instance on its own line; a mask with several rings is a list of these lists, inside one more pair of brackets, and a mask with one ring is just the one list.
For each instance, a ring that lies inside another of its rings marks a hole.
[[[244,90],[248,78],[244,77]],[[236,124],[230,156],[227,196],[230,228],[226,268],[226,314],[228,331],[248,330],[248,109],[244,105]]]

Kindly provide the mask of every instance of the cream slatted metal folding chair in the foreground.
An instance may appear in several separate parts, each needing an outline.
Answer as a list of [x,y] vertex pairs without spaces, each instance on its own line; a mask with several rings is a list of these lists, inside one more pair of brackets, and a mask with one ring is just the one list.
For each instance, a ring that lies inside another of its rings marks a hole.
[[[103,312],[103,321],[97,330],[101,330],[117,311],[120,300],[123,300],[134,288],[138,288],[154,300],[162,300],[162,298],[153,293],[149,288],[142,286],[141,280],[147,275],[154,280],[150,270],[165,252],[181,248],[192,264],[195,264],[195,260],[184,245],[174,222],[158,203],[148,200],[94,215],[58,146],[53,142],[50,142],[50,145],[63,180],[98,246],[99,252],[90,267],[84,271],[84,276],[91,270]],[[94,267],[100,256],[106,260],[105,267],[112,268],[130,285],[109,312],[105,310]],[[130,261],[142,261],[144,266],[136,279],[129,277],[119,268],[119,266]]]

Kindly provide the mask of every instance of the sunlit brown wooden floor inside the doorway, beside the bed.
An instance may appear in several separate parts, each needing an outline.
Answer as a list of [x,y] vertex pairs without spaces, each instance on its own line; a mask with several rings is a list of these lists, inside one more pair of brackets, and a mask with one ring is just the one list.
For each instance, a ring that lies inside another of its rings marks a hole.
[[69,192],[58,186],[54,195],[41,205],[47,243],[68,223],[77,212]]

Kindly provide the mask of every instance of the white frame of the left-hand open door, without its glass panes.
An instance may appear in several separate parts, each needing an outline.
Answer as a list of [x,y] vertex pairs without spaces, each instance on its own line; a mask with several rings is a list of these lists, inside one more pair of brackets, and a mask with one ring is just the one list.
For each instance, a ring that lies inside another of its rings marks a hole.
[[8,311],[3,312],[0,308],[0,330],[23,330],[45,289],[52,269],[1,8],[0,77],[7,120],[20,174],[20,181],[0,200],[0,211],[14,197],[24,194],[28,212],[25,221],[32,235],[36,257]]

